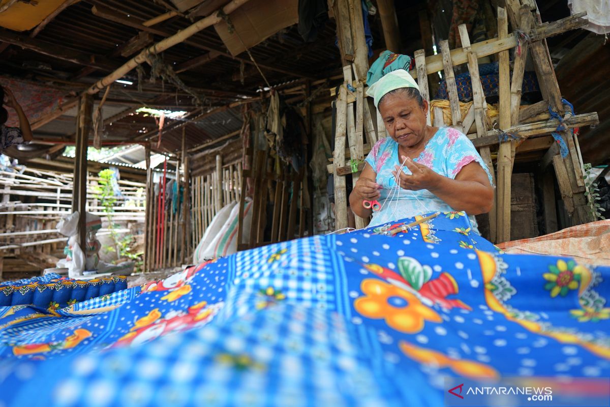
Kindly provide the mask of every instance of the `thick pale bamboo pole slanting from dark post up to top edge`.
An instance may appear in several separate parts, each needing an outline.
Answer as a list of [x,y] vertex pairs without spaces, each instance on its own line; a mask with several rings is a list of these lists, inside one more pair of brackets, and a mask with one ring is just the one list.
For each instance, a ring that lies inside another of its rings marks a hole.
[[[229,15],[246,2],[248,2],[248,0],[232,0],[231,2],[229,2],[229,4],[225,5],[224,7],[222,7],[222,9],[219,9],[218,11],[222,10],[223,13]],[[223,20],[218,12],[212,13],[206,18],[202,18],[201,20],[196,21],[194,24],[191,24],[190,26],[186,27],[184,30],[177,32],[171,37],[167,37],[159,41],[158,43],[149,46],[144,51],[140,52],[140,54],[124,63],[113,73],[91,85],[91,87],[87,89],[86,93],[88,93],[89,95],[98,93],[101,89],[106,88],[108,85],[112,84],[112,82],[116,81],[117,79],[121,79],[121,77],[125,76],[127,73],[129,73],[129,71],[133,70],[141,63],[146,62],[148,56],[159,54],[160,52],[163,52],[166,49],[181,43],[188,37],[191,37],[192,35],[196,34],[197,32],[202,31],[207,27],[213,26],[214,24],[220,23],[221,21]]]

